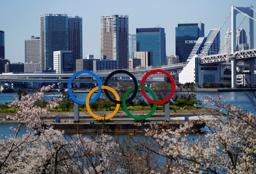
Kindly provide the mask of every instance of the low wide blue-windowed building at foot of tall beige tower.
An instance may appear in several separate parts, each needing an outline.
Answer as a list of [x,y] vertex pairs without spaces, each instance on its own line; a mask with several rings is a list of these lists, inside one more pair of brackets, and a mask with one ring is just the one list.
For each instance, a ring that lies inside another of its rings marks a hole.
[[117,60],[99,59],[93,60],[93,71],[101,70],[116,70],[117,69]]

